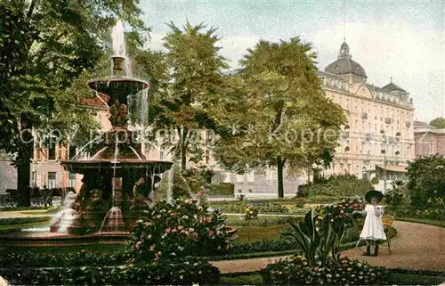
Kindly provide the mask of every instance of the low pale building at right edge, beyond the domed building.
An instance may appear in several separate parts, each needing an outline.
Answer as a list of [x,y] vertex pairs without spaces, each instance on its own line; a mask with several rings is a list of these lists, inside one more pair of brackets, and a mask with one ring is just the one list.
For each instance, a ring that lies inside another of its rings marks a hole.
[[416,157],[433,154],[445,155],[445,128],[436,128],[428,123],[414,122]]

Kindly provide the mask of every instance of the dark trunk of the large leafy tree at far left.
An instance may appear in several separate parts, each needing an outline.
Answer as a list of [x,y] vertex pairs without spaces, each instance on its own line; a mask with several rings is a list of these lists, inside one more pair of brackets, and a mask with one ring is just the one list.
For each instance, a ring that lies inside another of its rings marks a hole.
[[32,121],[23,112],[20,117],[20,148],[17,157],[17,192],[20,194],[20,206],[31,205],[29,181],[31,179],[31,157],[34,153]]

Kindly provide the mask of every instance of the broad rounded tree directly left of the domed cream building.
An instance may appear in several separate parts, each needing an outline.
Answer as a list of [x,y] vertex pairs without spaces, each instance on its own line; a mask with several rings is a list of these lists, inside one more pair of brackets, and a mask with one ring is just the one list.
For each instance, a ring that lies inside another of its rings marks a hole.
[[222,126],[234,122],[214,147],[218,161],[238,173],[277,168],[279,198],[283,169],[328,165],[345,122],[343,110],[322,93],[315,60],[298,37],[260,41],[228,80],[225,115],[214,112]]

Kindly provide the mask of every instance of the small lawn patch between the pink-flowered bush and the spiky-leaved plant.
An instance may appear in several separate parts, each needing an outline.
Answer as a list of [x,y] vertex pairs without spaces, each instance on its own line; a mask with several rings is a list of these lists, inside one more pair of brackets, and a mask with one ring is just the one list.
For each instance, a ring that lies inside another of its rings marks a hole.
[[237,226],[237,234],[239,238],[233,241],[234,244],[247,243],[263,240],[276,240],[282,231],[290,225],[273,225],[273,226]]

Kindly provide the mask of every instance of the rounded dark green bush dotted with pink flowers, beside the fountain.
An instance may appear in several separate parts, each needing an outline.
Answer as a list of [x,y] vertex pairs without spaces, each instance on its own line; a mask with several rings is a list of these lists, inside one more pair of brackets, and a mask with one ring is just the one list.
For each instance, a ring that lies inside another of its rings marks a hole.
[[223,253],[231,243],[221,213],[209,213],[192,200],[159,202],[138,222],[127,252],[138,263],[190,255]]

